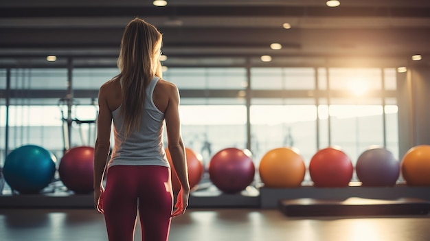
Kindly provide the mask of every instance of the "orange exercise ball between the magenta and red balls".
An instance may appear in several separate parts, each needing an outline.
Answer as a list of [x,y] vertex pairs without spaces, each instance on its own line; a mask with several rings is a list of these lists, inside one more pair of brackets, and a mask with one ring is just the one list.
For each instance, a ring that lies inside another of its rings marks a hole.
[[260,178],[266,187],[299,187],[306,166],[302,157],[291,148],[269,150],[260,161]]

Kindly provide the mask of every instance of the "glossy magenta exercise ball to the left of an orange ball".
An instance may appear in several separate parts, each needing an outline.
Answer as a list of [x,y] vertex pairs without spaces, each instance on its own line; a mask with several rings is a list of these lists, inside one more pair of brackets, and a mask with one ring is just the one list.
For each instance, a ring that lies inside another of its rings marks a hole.
[[256,168],[249,150],[225,148],[214,154],[208,171],[210,180],[219,190],[234,194],[253,182]]

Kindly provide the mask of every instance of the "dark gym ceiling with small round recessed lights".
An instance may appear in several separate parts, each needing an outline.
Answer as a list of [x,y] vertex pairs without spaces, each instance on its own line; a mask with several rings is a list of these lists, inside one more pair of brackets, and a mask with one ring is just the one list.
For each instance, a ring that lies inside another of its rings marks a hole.
[[[340,1],[328,8],[325,0],[170,0],[166,7],[152,0],[1,0],[0,67],[63,66],[69,57],[76,67],[113,67],[134,16],[163,33],[168,67],[399,67],[411,65],[414,54],[430,65],[430,1]],[[58,60],[47,62],[49,54]]]

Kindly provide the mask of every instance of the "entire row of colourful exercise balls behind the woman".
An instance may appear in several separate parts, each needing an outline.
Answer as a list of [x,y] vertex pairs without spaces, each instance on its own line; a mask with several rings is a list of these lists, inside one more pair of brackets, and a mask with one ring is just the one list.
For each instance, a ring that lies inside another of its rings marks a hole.
[[[76,193],[92,192],[93,148],[80,146],[68,150],[60,161],[58,172],[65,186]],[[170,153],[166,149],[171,162]],[[185,149],[191,187],[201,181],[201,156]],[[12,190],[35,193],[46,187],[55,174],[54,154],[39,146],[22,146],[12,151],[3,167],[4,179]],[[401,165],[385,148],[370,148],[357,159],[357,177],[364,186],[394,185],[400,167],[408,185],[430,185],[430,146],[411,148]],[[353,166],[348,156],[337,148],[319,150],[310,160],[310,177],[317,187],[345,187],[352,178]],[[298,187],[304,180],[306,167],[302,157],[290,148],[276,148],[267,152],[260,162],[260,177],[267,187]],[[255,167],[251,153],[238,148],[226,148],[212,157],[210,179],[218,189],[235,193],[245,189],[254,178]],[[174,192],[179,181],[172,173]]]

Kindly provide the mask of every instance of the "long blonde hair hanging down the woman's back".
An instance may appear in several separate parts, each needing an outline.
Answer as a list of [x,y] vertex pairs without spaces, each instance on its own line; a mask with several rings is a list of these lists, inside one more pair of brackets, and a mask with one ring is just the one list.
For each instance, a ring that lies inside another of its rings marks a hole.
[[162,35],[154,25],[135,18],[124,30],[117,60],[122,89],[122,129],[125,138],[139,130],[144,111],[146,87],[154,76],[161,78],[158,61]]

